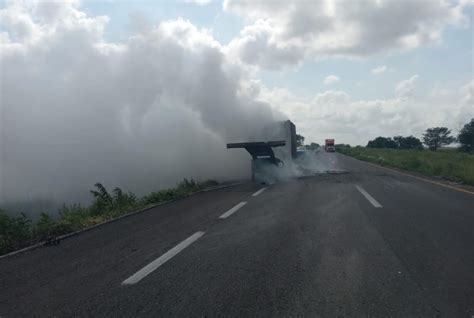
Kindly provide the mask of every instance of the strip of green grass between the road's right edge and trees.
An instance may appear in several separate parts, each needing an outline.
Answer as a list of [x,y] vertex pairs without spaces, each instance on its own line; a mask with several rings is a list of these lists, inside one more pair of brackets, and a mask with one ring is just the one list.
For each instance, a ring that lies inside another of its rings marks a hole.
[[337,151],[382,166],[416,171],[431,177],[474,185],[474,155],[454,149],[430,151],[341,147]]

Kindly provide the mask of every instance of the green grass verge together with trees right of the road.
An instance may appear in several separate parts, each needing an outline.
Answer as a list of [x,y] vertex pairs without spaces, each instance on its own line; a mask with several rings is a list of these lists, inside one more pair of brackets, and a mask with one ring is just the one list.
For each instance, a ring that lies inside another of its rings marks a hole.
[[[460,145],[457,149],[442,148],[455,141]],[[474,185],[474,119],[464,125],[457,138],[446,127],[428,128],[423,144],[413,136],[377,137],[367,147],[338,145],[337,151],[384,166]]]

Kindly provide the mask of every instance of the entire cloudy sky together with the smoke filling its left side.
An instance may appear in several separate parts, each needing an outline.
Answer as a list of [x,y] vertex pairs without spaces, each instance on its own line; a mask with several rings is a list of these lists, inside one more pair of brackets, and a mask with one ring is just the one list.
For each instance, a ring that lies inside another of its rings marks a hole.
[[472,0],[0,1],[1,201],[245,175],[290,119],[365,145],[474,117]]

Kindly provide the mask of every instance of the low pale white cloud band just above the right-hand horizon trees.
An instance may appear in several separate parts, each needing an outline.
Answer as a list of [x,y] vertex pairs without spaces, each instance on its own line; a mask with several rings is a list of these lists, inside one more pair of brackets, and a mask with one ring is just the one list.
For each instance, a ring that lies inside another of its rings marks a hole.
[[[412,77],[413,78],[413,77]],[[414,135],[421,138],[429,127],[446,126],[453,131],[474,118],[474,80],[449,90],[449,97],[432,94],[407,99],[354,100],[343,91],[325,91],[315,96],[261,87],[259,99],[271,103],[297,125],[307,142],[325,138],[352,145],[366,145],[377,136]]]

